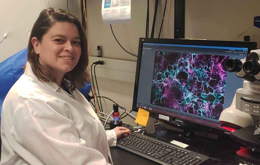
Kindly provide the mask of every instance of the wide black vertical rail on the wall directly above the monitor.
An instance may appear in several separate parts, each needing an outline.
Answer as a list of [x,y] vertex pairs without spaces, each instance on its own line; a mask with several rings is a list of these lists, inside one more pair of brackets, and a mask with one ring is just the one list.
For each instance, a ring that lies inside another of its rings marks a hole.
[[185,0],[174,0],[174,38],[184,38]]

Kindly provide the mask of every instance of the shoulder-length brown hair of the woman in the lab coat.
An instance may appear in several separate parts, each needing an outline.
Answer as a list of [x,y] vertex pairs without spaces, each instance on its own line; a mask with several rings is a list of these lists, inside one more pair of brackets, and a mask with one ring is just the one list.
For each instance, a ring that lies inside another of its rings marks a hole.
[[[81,55],[77,65],[64,75],[64,79],[69,82],[70,90],[75,90],[75,88],[85,87],[85,84],[89,82],[90,75],[87,71],[88,65],[88,52],[87,52],[87,37],[84,28],[82,27],[79,20],[62,9],[48,8],[41,11],[38,19],[35,21],[32,31],[30,34],[28,42],[28,51],[27,51],[27,61],[30,62],[32,71],[38,80],[42,82],[56,82],[55,77],[51,71],[40,64],[39,55],[34,51],[32,45],[32,37],[36,37],[39,42],[41,42],[43,35],[48,32],[48,30],[56,22],[69,22],[77,26],[80,35],[80,44],[81,44]],[[65,81],[63,81],[64,83]]]

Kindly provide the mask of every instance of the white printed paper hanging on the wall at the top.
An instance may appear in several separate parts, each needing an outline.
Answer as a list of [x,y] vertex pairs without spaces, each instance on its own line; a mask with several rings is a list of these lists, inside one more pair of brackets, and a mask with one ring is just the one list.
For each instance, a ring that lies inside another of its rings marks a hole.
[[131,19],[131,0],[102,0],[104,24],[125,22]]

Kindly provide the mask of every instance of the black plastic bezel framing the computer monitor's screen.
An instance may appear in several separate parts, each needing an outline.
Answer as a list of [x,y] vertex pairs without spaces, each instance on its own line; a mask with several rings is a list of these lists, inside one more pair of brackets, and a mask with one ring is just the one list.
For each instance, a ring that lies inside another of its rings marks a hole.
[[[246,48],[248,48],[248,53],[251,50],[256,49],[256,46],[257,46],[256,42],[247,42],[247,41],[139,38],[137,68],[136,68],[136,75],[135,75],[135,81],[134,81],[134,96],[133,96],[133,105],[132,105],[132,110],[135,112],[138,112],[138,108],[139,108],[136,105],[137,105],[137,93],[138,93],[139,75],[140,75],[140,67],[141,67],[142,45],[144,42],[145,43],[160,43],[160,44],[200,45],[200,46],[246,47]],[[146,109],[146,110],[150,112],[150,116],[155,117],[157,119],[158,119],[158,114],[163,114],[165,116],[169,116],[171,118],[171,120],[178,118],[178,119],[182,119],[186,122],[196,123],[196,125],[199,124],[199,125],[210,127],[210,128],[216,128],[216,129],[219,129],[222,131],[224,130],[223,128],[214,127],[214,126],[206,125],[203,123],[192,122],[190,120],[187,120],[187,119],[184,119],[181,117],[171,116],[171,115],[164,114],[164,113],[158,113],[158,112],[150,111],[148,109]]]

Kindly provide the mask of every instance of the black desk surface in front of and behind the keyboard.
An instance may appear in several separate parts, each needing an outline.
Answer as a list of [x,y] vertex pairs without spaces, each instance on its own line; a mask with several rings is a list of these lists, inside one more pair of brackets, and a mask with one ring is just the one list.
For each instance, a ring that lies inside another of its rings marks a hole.
[[[158,127],[157,127],[158,128]],[[164,136],[163,138],[170,141],[171,139],[175,139],[177,141],[186,143],[189,145],[186,149],[195,151],[197,153],[205,153],[209,156],[212,156],[215,159],[221,159],[221,161],[216,161],[213,159],[208,159],[202,165],[208,165],[208,164],[214,164],[214,165],[238,165],[235,161],[235,153],[236,150],[234,148],[239,148],[239,146],[236,145],[236,142],[233,141],[230,138],[224,138],[219,140],[207,140],[205,138],[201,138],[198,136],[195,136],[193,140],[186,141],[183,136],[179,136],[179,133],[177,134],[169,133],[170,135]],[[150,134],[147,134],[147,136],[150,136]],[[153,136],[151,136],[154,138]],[[212,150],[213,149],[213,150]],[[119,147],[111,147],[111,155],[113,159],[114,165],[139,165],[140,162],[142,162],[142,165],[157,165],[158,163],[151,161],[147,158],[144,158],[142,156],[139,156],[137,154],[134,154],[130,151],[126,151],[124,149],[121,149]]]

